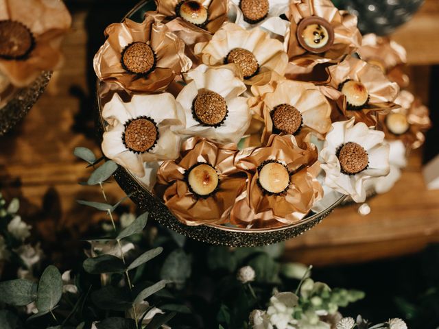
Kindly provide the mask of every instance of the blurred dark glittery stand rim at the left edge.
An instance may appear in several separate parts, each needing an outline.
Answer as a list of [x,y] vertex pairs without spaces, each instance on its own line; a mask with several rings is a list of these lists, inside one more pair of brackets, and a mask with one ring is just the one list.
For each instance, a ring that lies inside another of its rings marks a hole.
[[3,136],[16,125],[34,106],[45,90],[52,73],[45,71],[26,88],[16,91],[13,97],[0,108],[0,136]]

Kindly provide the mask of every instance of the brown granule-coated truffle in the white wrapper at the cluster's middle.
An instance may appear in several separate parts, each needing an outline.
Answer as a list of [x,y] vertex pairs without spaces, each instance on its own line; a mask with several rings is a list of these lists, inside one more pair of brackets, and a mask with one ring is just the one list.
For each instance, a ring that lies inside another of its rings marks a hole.
[[193,101],[192,114],[202,125],[218,127],[227,117],[226,99],[214,91],[202,90]]

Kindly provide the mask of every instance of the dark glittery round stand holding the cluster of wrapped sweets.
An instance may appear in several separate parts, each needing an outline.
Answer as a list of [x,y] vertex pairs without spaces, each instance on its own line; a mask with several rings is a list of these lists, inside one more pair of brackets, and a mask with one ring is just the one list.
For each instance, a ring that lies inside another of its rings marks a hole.
[[[141,1],[126,17],[134,21],[143,21],[143,15],[148,10],[154,10],[154,1]],[[106,130],[106,123],[102,118],[103,99],[100,99],[97,84],[97,132],[99,141],[102,141],[102,133]],[[269,245],[278,243],[298,236],[320,223],[332,210],[343,202],[344,195],[332,191],[324,186],[324,197],[313,207],[313,211],[297,223],[270,229],[246,229],[223,225],[186,226],[180,223],[161,199],[150,193],[143,183],[134,174],[123,167],[115,172],[115,180],[123,191],[130,195],[132,201],[141,209],[150,212],[150,217],[161,225],[174,230],[189,238],[211,243],[215,245],[228,245],[230,247],[251,247],[256,245]]]

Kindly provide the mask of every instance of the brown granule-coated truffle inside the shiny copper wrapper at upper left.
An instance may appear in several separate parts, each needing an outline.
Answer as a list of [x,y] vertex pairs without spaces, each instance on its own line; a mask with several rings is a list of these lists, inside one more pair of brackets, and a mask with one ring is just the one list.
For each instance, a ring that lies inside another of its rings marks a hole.
[[154,51],[145,42],[133,42],[122,52],[122,66],[128,73],[147,74],[154,70]]

